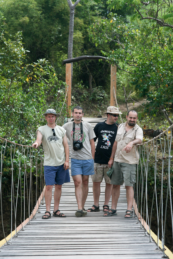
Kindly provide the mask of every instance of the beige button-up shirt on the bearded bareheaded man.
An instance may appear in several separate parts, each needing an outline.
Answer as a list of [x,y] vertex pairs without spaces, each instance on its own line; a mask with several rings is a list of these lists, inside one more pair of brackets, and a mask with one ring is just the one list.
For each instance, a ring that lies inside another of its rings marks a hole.
[[123,148],[134,139],[140,138],[143,140],[143,130],[138,124],[130,129],[127,133],[125,130],[127,121],[119,125],[115,141],[117,142],[117,148],[115,152],[114,161],[120,163],[127,163],[130,165],[139,163],[139,153],[136,145],[132,146],[131,151],[126,153],[126,150],[122,151]]

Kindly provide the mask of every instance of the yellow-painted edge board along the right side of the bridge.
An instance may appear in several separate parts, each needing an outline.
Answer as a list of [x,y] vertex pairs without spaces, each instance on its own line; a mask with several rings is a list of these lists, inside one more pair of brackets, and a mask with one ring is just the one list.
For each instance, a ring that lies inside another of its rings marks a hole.
[[[142,224],[142,226],[145,228],[145,230],[147,229],[147,232],[148,232],[148,234],[150,234],[151,235],[151,237],[152,237],[152,239],[155,241],[155,243],[157,244],[157,235],[150,229],[150,231],[149,231],[149,226],[146,224],[146,222],[145,222],[145,220],[143,219],[143,218],[141,218],[141,215],[140,215],[140,213],[138,212],[138,209],[137,209],[137,204],[136,204],[136,201],[135,201],[135,199],[134,199],[134,201],[133,201],[133,208],[134,208],[134,211],[135,211],[135,214],[136,214],[136,216],[137,216],[137,214],[138,214],[138,220],[140,220],[141,221],[141,224]],[[162,246],[162,243],[161,243],[161,240],[159,239],[159,248],[161,249],[161,250],[163,250],[163,246]],[[165,248],[165,254],[166,254],[166,256],[168,256],[168,258],[169,259],[173,259],[173,254],[172,254],[172,252],[171,252],[171,250],[169,250],[169,248],[168,247],[166,247],[166,245],[164,245],[164,248]]]

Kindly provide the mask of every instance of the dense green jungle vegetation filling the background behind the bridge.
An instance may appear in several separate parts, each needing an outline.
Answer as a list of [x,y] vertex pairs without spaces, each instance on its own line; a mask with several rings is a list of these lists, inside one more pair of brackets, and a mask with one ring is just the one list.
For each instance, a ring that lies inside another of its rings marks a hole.
[[[44,111],[62,108],[69,1],[0,0],[2,138],[30,145],[37,127],[45,124]],[[118,103],[125,103],[125,92],[130,95],[128,101],[145,98],[144,106],[138,108],[138,124],[166,129],[173,123],[172,41],[172,1],[79,1],[73,57],[105,56],[108,61],[73,63],[72,106],[83,106],[86,116],[102,115],[110,104],[110,64],[116,64]],[[60,125],[65,117],[64,106]],[[7,172],[4,176],[3,186],[10,181]],[[8,194],[6,198],[10,199]]]

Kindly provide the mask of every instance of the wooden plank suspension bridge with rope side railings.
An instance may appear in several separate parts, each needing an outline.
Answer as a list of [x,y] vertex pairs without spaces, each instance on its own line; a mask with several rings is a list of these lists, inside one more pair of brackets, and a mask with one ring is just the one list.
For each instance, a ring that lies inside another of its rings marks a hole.
[[[103,121],[101,118],[84,120],[93,127]],[[60,200],[60,210],[67,217],[42,220],[46,210],[43,150],[1,138],[1,230],[4,233],[4,239],[0,241],[1,258],[173,258],[172,127],[173,125],[158,137],[138,146],[140,163],[134,187],[135,213],[131,219],[124,218],[127,208],[124,186],[121,187],[117,216],[104,218],[103,211],[100,211],[88,212],[87,216],[76,218],[77,203],[71,179],[70,183],[63,184]],[[9,172],[11,178],[11,197],[6,201],[11,208],[9,215],[2,207],[5,171]],[[153,172],[152,179],[148,178],[148,172]],[[14,176],[18,178],[16,185]],[[148,188],[151,184],[152,191]],[[105,183],[102,182],[100,207],[104,204],[104,188]],[[148,205],[149,200],[152,205]],[[85,209],[92,205],[90,178]],[[53,196],[51,213],[52,210]],[[7,236],[7,226],[3,224],[4,215],[10,222],[10,235]],[[155,234],[152,231],[153,223]],[[166,246],[167,243],[170,249]]]

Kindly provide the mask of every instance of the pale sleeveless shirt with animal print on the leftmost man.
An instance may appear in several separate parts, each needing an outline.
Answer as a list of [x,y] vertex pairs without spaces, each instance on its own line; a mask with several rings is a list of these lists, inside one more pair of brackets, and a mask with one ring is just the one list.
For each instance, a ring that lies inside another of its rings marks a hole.
[[54,128],[55,136],[53,136],[52,128],[48,125],[41,126],[37,129],[42,134],[42,144],[44,148],[43,165],[59,166],[65,162],[65,151],[63,146],[63,137],[65,129],[56,125]]

